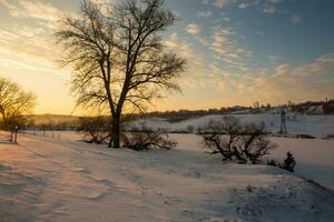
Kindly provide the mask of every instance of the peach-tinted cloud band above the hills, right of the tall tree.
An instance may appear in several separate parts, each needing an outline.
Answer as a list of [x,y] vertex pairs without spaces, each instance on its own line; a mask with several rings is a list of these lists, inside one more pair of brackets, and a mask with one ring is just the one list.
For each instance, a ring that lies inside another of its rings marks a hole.
[[[180,46],[175,43],[175,46]],[[292,65],[277,64],[273,68],[259,68],[240,74],[226,70],[220,63],[204,65],[205,59],[196,59],[191,46],[187,58],[189,69],[184,80],[184,88],[200,88],[204,94],[210,92],[210,105],[250,105],[254,101],[283,104],[292,100],[322,100],[333,95],[334,53],[325,54],[312,62]],[[186,48],[184,48],[186,49]],[[187,50],[186,50],[187,51]],[[189,84],[191,82],[191,84]],[[191,95],[189,95],[191,97]],[[197,95],[198,103],[206,103],[206,97]],[[215,99],[219,98],[219,99]]]

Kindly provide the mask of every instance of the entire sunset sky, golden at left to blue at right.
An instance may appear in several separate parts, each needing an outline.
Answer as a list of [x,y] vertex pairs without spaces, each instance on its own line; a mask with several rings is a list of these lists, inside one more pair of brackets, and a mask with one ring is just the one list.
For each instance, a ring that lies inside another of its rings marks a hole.
[[[62,50],[53,33],[59,18],[76,16],[79,6],[80,0],[0,0],[0,77],[37,94],[36,113],[73,111],[71,71],[57,62]],[[334,98],[334,1],[165,0],[165,8],[179,21],[163,33],[164,43],[187,60],[187,69],[179,80],[183,93],[150,110]]]

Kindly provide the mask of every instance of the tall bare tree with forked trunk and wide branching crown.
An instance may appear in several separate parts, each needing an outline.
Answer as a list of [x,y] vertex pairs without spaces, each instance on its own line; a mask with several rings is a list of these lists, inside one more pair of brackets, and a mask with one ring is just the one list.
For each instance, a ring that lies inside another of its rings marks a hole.
[[56,36],[67,52],[63,65],[73,68],[78,105],[107,108],[118,148],[122,112],[144,112],[165,92],[179,91],[185,60],[163,44],[160,33],[177,20],[163,0],[125,0],[107,11],[84,1],[81,18],[62,19]]

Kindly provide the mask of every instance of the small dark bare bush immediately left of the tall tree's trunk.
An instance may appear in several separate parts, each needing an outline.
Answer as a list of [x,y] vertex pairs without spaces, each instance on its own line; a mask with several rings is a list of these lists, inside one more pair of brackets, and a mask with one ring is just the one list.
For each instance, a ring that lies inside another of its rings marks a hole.
[[86,142],[101,144],[111,140],[110,127],[107,117],[79,118],[78,131],[84,133]]

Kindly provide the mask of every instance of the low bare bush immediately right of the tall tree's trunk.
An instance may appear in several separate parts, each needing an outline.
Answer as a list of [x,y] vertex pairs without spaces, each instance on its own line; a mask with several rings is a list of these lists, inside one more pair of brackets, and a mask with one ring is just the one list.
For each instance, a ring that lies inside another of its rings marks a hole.
[[176,147],[176,142],[168,138],[168,134],[163,130],[153,131],[143,129],[141,132],[122,133],[124,147],[136,151],[166,149],[169,150]]

